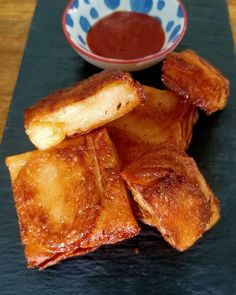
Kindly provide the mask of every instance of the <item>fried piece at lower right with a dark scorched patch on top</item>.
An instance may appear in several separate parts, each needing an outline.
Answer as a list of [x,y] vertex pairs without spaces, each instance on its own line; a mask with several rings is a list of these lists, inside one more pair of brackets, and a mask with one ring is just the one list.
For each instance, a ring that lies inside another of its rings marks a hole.
[[219,219],[217,199],[196,163],[174,145],[160,145],[121,173],[142,220],[179,251]]

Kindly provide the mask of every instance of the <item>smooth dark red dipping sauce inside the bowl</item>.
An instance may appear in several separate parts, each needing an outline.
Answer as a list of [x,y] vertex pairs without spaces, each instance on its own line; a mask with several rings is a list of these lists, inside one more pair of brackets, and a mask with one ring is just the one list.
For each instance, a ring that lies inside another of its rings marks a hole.
[[165,42],[161,24],[154,17],[117,11],[96,22],[87,34],[87,43],[97,55],[134,59],[157,53]]

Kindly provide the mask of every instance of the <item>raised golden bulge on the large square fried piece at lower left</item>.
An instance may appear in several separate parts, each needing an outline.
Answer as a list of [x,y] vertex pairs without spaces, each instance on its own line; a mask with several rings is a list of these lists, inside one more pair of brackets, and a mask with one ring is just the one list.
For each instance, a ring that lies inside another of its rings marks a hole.
[[86,151],[86,138],[79,138],[32,152],[13,182],[29,267],[75,250],[96,221],[101,196]]

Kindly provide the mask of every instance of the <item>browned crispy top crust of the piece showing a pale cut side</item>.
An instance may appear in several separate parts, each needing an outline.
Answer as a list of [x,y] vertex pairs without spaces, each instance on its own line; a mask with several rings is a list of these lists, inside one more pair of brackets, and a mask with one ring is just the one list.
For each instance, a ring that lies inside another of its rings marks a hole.
[[134,88],[137,91],[137,97],[140,103],[144,101],[145,97],[142,86],[137,81],[134,81],[130,74],[123,73],[119,70],[104,70],[72,87],[53,92],[32,107],[26,109],[24,113],[25,128],[31,122],[41,120],[44,116],[54,113],[65,106],[86,100],[98,93],[102,88],[116,82],[122,82]]

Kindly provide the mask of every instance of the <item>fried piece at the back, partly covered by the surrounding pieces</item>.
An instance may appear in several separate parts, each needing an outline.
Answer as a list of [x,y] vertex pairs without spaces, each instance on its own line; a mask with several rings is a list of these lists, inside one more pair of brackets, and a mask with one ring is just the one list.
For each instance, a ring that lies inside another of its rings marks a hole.
[[146,102],[127,115],[108,124],[108,132],[124,164],[169,142],[187,149],[192,127],[197,121],[195,106],[183,103],[175,94],[144,86]]

